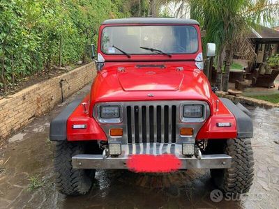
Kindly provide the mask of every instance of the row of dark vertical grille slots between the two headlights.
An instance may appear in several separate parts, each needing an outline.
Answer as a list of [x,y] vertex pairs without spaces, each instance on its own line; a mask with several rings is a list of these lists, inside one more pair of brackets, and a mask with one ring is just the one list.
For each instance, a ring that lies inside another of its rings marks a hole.
[[175,143],[176,105],[126,106],[128,144]]

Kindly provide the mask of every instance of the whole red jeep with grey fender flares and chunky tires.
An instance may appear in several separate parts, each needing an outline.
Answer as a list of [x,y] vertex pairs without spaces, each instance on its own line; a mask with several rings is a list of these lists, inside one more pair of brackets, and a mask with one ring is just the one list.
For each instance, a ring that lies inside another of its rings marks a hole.
[[[214,55],[208,44],[206,56]],[[86,194],[96,169],[210,169],[224,192],[248,192],[252,121],[241,104],[213,92],[202,71],[198,22],[106,20],[96,68],[91,92],[50,125],[59,192]]]

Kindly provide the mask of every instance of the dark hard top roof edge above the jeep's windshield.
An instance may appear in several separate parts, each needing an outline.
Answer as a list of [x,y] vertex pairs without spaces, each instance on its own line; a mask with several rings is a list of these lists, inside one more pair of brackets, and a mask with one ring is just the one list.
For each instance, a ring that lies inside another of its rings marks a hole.
[[129,17],[105,20],[103,24],[199,24],[196,20],[160,17]]

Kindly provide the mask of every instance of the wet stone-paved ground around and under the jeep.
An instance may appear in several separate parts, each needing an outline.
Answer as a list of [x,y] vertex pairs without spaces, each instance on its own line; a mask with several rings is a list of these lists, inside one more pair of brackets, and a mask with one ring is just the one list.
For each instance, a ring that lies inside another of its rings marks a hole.
[[213,191],[209,170],[157,176],[99,170],[89,194],[59,194],[52,167],[54,143],[48,139],[50,120],[89,88],[36,119],[1,147],[0,208],[279,208],[279,109],[251,109],[255,179],[245,196],[222,197]]

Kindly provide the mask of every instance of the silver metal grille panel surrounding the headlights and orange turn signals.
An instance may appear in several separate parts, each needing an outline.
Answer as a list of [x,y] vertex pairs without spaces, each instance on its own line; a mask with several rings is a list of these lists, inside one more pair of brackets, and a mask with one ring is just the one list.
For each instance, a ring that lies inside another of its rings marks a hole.
[[[199,129],[205,123],[181,122],[181,107],[184,104],[203,104],[205,120],[209,118],[209,105],[203,101],[133,101],[133,102],[103,102],[98,103],[93,111],[93,116],[98,120],[98,109],[102,105],[118,105],[121,107],[120,123],[99,123],[107,135],[109,143],[121,144],[181,144],[195,143]],[[100,122],[100,121],[99,121]],[[110,136],[110,128],[123,129],[122,137]],[[181,127],[193,127],[193,136],[180,135]]]

